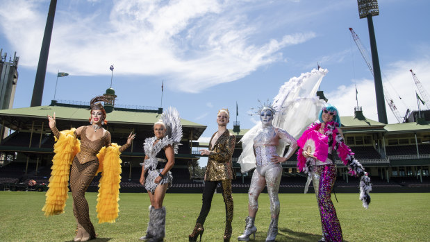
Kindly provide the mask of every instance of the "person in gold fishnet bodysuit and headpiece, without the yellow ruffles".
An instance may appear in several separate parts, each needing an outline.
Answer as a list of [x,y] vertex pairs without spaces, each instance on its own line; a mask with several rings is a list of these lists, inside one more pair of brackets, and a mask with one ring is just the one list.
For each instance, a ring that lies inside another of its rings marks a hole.
[[[95,99],[95,100],[94,100]],[[88,241],[96,237],[94,226],[90,221],[88,202],[85,199],[85,191],[90,186],[94,175],[99,168],[97,153],[104,146],[110,146],[110,132],[101,127],[106,124],[106,111],[98,98],[93,98],[91,102],[90,126],[81,126],[74,132],[76,138],[81,138],[81,151],[76,154],[72,162],[70,171],[70,189],[73,197],[73,214],[77,221],[78,230],[74,241]],[[55,113],[49,116],[49,128],[58,139],[60,132],[56,128]],[[129,148],[135,135],[130,134],[124,146],[119,148],[119,152]]]

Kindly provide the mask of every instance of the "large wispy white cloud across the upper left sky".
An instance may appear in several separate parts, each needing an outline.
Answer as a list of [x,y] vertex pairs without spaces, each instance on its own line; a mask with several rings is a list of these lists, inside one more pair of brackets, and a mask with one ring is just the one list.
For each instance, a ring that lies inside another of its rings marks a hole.
[[[96,10],[81,11],[85,3]],[[40,1],[2,2],[0,25],[22,66],[37,66],[46,7]],[[161,76],[169,88],[200,92],[281,61],[279,50],[315,37],[307,32],[261,40],[265,19],[250,22],[246,11],[252,8],[247,1],[210,0],[119,0],[108,14],[103,1],[57,6],[47,71],[106,75],[114,63],[117,75]]]

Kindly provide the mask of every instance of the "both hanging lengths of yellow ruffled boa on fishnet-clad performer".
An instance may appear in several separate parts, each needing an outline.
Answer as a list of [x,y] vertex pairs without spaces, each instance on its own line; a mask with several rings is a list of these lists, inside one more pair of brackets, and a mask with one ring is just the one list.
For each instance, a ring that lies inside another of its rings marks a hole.
[[[69,183],[70,165],[74,156],[80,151],[81,142],[74,136],[76,129],[60,132],[60,138],[56,139],[53,151],[56,155],[52,159],[52,172],[49,178],[47,199],[42,208],[45,216],[63,214]],[[119,148],[113,143],[108,148],[103,147],[97,154],[101,179],[99,181],[99,195],[97,196],[97,218],[99,223],[115,223],[119,212],[119,182],[121,181],[121,159]]]

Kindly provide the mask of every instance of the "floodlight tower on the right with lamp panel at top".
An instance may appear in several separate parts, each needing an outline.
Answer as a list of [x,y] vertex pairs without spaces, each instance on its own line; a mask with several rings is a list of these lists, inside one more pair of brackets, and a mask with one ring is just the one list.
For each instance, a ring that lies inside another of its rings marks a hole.
[[379,67],[377,40],[374,35],[372,19],[372,16],[379,15],[378,1],[357,0],[357,3],[360,18],[367,18],[367,26],[369,27],[370,50],[372,51],[372,64],[374,71],[374,89],[377,94],[378,121],[380,123],[388,123],[386,104],[383,97],[381,68]]

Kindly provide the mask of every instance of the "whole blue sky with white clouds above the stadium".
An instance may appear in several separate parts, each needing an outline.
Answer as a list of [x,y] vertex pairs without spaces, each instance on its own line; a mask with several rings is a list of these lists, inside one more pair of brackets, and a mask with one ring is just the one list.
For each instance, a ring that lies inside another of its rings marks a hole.
[[[19,56],[14,107],[28,107],[49,1],[0,5],[0,48]],[[383,79],[402,115],[417,109],[409,69],[430,91],[429,9],[426,0],[380,0],[374,17]],[[158,107],[164,81],[163,107],[208,126],[207,139],[221,107],[231,110],[233,128],[237,101],[241,128],[251,128],[258,98],[273,98],[320,62],[329,71],[321,89],[340,115],[354,114],[356,85],[365,116],[377,120],[373,77],[350,27],[370,53],[356,1],[58,1],[42,105],[53,98],[58,70],[69,76],[58,78],[56,99],[90,101],[110,86],[114,64],[116,103]]]

